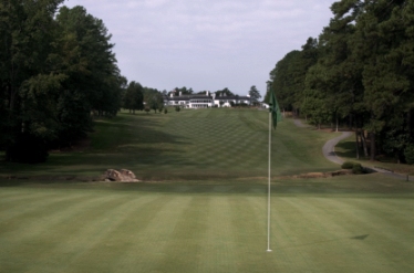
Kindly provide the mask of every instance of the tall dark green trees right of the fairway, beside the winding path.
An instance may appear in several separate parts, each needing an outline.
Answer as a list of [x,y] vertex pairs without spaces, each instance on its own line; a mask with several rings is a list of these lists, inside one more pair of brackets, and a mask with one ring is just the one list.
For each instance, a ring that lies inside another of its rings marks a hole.
[[282,109],[311,124],[348,123],[356,151],[414,162],[414,2],[341,0],[318,39],[270,72]]

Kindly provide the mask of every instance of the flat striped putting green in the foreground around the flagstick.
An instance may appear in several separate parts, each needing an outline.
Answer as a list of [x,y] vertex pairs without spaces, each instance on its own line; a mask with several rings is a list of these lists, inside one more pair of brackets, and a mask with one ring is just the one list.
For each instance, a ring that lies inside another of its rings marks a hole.
[[0,272],[412,272],[413,185],[380,175],[0,188]]

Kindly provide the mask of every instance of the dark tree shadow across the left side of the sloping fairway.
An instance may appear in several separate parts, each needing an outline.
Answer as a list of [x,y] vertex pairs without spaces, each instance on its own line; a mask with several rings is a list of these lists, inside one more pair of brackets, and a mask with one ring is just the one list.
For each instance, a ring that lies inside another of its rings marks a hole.
[[179,148],[188,145],[188,139],[163,132],[157,120],[103,119],[95,125],[95,132],[90,136],[92,145],[84,151],[53,153],[46,162],[37,165],[1,160],[0,174],[23,177],[96,176],[108,168],[130,168],[134,171],[137,166],[157,166],[162,161],[192,165]]

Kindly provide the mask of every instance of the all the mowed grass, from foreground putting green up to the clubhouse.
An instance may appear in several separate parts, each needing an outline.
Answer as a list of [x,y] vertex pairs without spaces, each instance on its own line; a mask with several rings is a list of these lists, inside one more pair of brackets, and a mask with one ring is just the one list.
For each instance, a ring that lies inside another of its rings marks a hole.
[[[414,272],[414,185],[294,178],[339,169],[321,151],[338,134],[290,119],[272,132],[267,252],[267,118],[121,113],[85,149],[1,161],[0,272]],[[97,181],[107,168],[142,181]]]

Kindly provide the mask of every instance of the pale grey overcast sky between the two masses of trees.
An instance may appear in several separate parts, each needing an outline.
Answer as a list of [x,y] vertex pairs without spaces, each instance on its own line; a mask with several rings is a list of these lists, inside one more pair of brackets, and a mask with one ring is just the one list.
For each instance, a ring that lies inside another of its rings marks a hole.
[[121,72],[159,91],[266,93],[269,72],[318,38],[334,0],[66,0],[105,23]]

